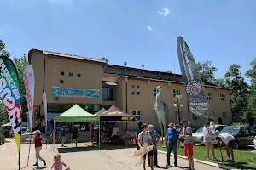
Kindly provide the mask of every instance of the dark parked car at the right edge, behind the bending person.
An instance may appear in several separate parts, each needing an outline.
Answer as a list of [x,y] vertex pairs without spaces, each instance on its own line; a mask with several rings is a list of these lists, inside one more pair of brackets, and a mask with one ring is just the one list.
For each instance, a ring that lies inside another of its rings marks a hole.
[[235,137],[234,149],[240,150],[242,147],[253,145],[256,136],[256,127],[251,126],[230,126],[224,127],[221,133],[230,133]]

